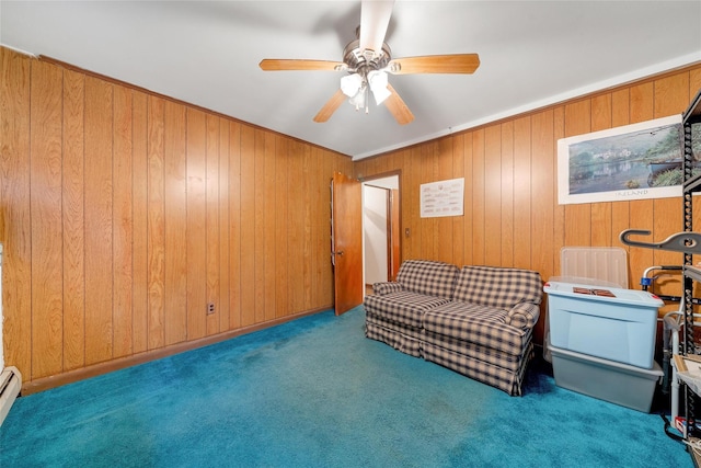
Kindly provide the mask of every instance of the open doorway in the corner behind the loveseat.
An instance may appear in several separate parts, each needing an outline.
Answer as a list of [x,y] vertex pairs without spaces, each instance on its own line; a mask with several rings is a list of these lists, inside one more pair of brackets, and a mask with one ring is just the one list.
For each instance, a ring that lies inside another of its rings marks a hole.
[[366,295],[393,281],[400,264],[400,186],[392,174],[363,181],[363,267]]

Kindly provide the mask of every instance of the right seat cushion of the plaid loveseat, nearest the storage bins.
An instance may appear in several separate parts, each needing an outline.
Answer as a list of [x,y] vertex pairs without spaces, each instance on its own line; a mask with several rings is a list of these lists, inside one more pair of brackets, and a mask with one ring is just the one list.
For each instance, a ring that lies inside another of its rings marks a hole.
[[424,329],[452,340],[519,356],[530,333],[506,324],[507,315],[503,309],[453,300],[426,312]]

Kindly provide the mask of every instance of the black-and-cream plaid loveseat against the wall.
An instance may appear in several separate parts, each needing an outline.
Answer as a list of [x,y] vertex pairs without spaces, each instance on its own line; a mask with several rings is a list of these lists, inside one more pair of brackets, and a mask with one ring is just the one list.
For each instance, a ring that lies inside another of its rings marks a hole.
[[366,336],[520,395],[543,294],[538,272],[409,260],[374,292]]

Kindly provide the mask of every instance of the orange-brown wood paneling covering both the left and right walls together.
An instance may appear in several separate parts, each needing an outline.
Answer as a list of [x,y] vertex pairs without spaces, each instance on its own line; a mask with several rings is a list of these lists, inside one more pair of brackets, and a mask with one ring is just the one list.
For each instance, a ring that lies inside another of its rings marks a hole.
[[[563,246],[677,231],[679,198],[559,205],[556,142],[674,115],[701,85],[701,66],[689,67],[353,162],[2,47],[0,62],[4,358],[28,379],[331,306],[334,172],[400,174],[402,259],[547,279]],[[421,184],[461,176],[464,216],[422,219]],[[675,261],[627,250],[633,287]]]

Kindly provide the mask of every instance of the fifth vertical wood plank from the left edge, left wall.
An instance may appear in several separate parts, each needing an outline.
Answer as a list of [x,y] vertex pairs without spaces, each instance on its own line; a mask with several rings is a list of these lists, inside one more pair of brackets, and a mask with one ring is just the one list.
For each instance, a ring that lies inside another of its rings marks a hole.
[[114,87],[113,159],[113,241],[114,241],[114,357],[134,353],[133,340],[133,263],[134,263],[134,187],[133,187],[133,109],[131,90]]

